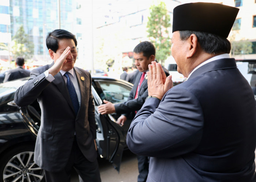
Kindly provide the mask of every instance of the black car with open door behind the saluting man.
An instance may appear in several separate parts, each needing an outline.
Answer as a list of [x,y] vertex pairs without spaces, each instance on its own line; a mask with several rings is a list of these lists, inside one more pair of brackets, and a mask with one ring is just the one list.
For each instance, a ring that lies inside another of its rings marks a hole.
[[[44,181],[44,170],[33,161],[35,139],[40,127],[39,104],[36,100],[29,106],[18,107],[13,101],[15,91],[27,79],[0,84],[0,182]],[[120,115],[101,115],[97,106],[102,104],[103,99],[112,103],[126,101],[133,85],[108,77],[93,77],[92,84],[98,126],[98,154],[119,171],[123,150],[127,149],[126,135],[132,119],[128,118],[121,127],[116,123]]]

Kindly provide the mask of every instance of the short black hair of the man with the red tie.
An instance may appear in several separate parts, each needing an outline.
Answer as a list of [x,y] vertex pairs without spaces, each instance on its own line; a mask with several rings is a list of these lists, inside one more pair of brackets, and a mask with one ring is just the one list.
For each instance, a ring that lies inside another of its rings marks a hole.
[[149,41],[144,41],[139,43],[133,50],[135,53],[140,53],[143,52],[143,56],[146,56],[149,58],[151,55],[155,56],[155,46],[149,42]]

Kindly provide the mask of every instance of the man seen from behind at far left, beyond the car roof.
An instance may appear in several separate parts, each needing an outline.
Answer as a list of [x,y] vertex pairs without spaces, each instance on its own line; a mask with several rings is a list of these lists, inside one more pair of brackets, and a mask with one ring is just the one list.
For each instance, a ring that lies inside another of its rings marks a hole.
[[16,80],[18,78],[24,78],[30,75],[30,71],[29,70],[25,70],[23,68],[25,64],[25,60],[22,57],[17,57],[15,60],[15,66],[17,68],[13,69],[13,70],[9,70],[7,72],[7,74],[4,77],[4,81],[3,82],[8,82],[11,80]]

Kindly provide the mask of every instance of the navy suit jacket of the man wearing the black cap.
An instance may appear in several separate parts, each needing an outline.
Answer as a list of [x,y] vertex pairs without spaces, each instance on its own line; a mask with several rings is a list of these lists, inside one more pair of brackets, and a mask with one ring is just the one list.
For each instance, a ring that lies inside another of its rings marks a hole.
[[147,182],[255,182],[255,98],[235,60],[207,63],[161,101],[148,98],[127,145],[151,157]]

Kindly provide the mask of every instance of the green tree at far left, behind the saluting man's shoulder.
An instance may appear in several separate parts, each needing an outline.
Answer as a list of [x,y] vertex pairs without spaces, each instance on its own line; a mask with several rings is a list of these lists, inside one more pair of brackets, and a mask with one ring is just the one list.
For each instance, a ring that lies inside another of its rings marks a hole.
[[12,39],[12,55],[30,59],[34,54],[34,44],[30,41],[29,35],[25,33],[23,25],[19,27]]

